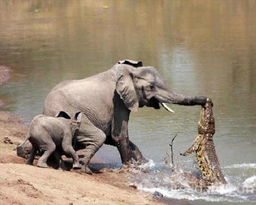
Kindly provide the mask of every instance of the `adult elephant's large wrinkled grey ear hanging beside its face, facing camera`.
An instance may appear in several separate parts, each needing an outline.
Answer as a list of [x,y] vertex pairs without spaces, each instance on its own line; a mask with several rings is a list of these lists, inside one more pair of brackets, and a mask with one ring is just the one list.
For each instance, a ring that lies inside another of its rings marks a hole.
[[133,74],[128,71],[120,73],[116,81],[116,92],[120,95],[126,108],[138,111],[139,100],[133,85]]

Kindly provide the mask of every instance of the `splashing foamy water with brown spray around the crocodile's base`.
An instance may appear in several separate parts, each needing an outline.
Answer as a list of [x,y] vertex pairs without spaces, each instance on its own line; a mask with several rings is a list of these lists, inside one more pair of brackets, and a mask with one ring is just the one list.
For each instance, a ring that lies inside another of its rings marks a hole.
[[[254,169],[255,164],[234,164],[226,169],[233,170]],[[136,172],[129,175],[129,180],[138,184],[138,191],[143,192],[160,192],[165,198],[186,199],[190,201],[203,200],[208,202],[230,202],[232,203],[254,203],[256,200],[256,175],[247,175],[241,179],[239,175],[227,175],[224,172],[227,184],[210,186],[207,191],[198,190],[189,185],[187,176],[192,176],[191,172],[186,172],[186,168],[176,167],[176,171],[172,171],[163,163],[155,164],[150,162],[146,166],[147,172]],[[242,171],[243,172],[243,171]],[[185,175],[184,175],[185,173]],[[188,173],[186,175],[186,173]],[[235,177],[236,180],[230,180]],[[151,187],[140,185],[140,182],[148,180],[152,184]]]

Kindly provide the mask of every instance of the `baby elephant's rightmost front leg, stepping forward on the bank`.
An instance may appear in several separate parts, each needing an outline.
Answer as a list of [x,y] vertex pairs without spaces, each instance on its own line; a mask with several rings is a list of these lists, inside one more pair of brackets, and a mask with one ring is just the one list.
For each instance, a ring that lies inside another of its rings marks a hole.
[[81,169],[79,165],[79,158],[75,150],[72,147],[72,136],[66,134],[62,140],[62,149],[66,155],[69,155],[73,159],[73,169]]

